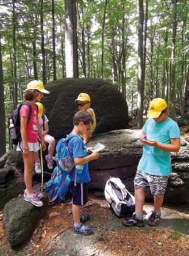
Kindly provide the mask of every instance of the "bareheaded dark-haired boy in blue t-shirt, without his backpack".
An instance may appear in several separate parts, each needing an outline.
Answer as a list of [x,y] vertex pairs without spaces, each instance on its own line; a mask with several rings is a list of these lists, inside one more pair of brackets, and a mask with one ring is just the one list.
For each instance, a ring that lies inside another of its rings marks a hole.
[[[82,222],[89,220],[89,216],[80,215],[81,206],[87,203],[88,197],[88,182],[90,176],[88,173],[88,162],[98,159],[98,152],[87,154],[87,148],[84,141],[79,135],[87,134],[90,126],[93,124],[93,118],[87,111],[78,111],[73,119],[74,128],[69,136],[72,136],[68,141],[70,155],[74,159],[76,170],[70,174],[71,193],[72,193],[72,211],[73,211],[73,231],[80,235],[90,235],[93,229],[84,225]],[[74,135],[74,136],[73,136]]]

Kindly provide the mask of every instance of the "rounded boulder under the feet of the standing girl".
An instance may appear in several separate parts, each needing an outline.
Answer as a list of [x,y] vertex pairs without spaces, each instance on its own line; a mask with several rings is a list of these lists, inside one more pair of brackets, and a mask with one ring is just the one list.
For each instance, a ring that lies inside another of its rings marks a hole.
[[43,207],[35,207],[21,196],[4,206],[2,224],[10,246],[18,246],[32,236],[38,220],[45,214],[48,205],[46,196],[43,203]]

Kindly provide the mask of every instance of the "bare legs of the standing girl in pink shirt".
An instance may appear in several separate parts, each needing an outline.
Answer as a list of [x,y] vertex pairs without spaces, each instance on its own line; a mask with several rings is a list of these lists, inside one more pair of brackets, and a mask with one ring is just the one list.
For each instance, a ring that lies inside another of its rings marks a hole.
[[32,194],[32,172],[34,169],[34,152],[29,151],[29,154],[24,155],[24,182],[29,195]]

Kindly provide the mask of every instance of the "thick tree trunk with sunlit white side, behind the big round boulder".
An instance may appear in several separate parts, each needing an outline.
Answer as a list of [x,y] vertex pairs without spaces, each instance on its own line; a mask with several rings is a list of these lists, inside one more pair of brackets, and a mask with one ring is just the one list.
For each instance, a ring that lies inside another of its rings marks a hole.
[[66,77],[79,77],[76,0],[65,0]]

